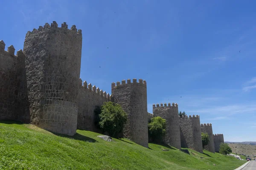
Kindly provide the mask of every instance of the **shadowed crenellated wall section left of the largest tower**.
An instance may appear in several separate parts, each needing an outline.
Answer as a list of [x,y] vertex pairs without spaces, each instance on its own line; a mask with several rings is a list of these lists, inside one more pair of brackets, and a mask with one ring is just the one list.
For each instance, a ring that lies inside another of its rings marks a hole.
[[0,41],[0,120],[18,120],[29,123],[26,93],[25,56]]

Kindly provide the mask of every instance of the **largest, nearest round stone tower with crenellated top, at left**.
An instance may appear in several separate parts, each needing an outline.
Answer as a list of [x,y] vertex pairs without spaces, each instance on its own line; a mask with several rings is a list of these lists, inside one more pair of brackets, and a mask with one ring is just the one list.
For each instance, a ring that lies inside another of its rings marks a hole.
[[81,67],[81,30],[53,21],[28,31],[24,42],[31,123],[74,135]]

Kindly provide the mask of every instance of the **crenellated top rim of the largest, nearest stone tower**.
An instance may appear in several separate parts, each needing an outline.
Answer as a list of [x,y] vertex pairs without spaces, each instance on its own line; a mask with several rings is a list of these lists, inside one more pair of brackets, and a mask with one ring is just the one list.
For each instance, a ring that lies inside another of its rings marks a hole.
[[71,28],[68,29],[67,23],[64,22],[61,24],[61,27],[58,27],[58,24],[56,23],[56,21],[52,21],[51,25],[49,25],[49,23],[45,23],[44,26],[39,26],[38,29],[34,28],[33,31],[28,31],[26,36],[29,36],[30,34],[36,34],[40,31],[46,31],[49,29],[56,29],[56,28],[70,30],[78,35],[82,35],[82,30],[81,29],[77,30],[75,25],[71,26]]

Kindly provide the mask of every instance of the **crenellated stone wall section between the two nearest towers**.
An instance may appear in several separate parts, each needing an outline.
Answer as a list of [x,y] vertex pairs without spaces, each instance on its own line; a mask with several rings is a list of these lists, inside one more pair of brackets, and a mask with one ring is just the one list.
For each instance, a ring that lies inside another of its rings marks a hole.
[[[81,80],[80,80],[81,81]],[[111,101],[111,96],[106,92],[99,90],[95,85],[87,85],[84,81],[83,85],[80,83],[78,95],[78,116],[77,128],[83,130],[97,131],[95,126],[95,112],[96,107],[100,107],[104,102]]]

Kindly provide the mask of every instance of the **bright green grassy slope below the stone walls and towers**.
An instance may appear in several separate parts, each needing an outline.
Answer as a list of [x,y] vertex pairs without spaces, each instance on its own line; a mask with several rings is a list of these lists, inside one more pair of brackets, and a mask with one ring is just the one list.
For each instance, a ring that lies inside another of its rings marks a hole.
[[106,142],[97,135],[77,130],[75,136],[67,137],[33,125],[2,121],[0,169],[233,170],[245,163],[232,156],[208,151],[201,154],[183,148],[182,152],[158,144],[149,144],[149,148],[145,148],[127,139]]

